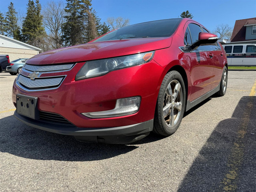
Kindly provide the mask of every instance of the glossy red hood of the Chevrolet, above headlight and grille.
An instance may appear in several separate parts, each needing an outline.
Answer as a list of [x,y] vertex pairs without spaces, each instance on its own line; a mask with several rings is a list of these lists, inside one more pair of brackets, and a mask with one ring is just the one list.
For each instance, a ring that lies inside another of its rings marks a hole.
[[83,62],[168,48],[171,43],[170,37],[91,42],[44,52],[30,58],[26,63],[44,65]]

